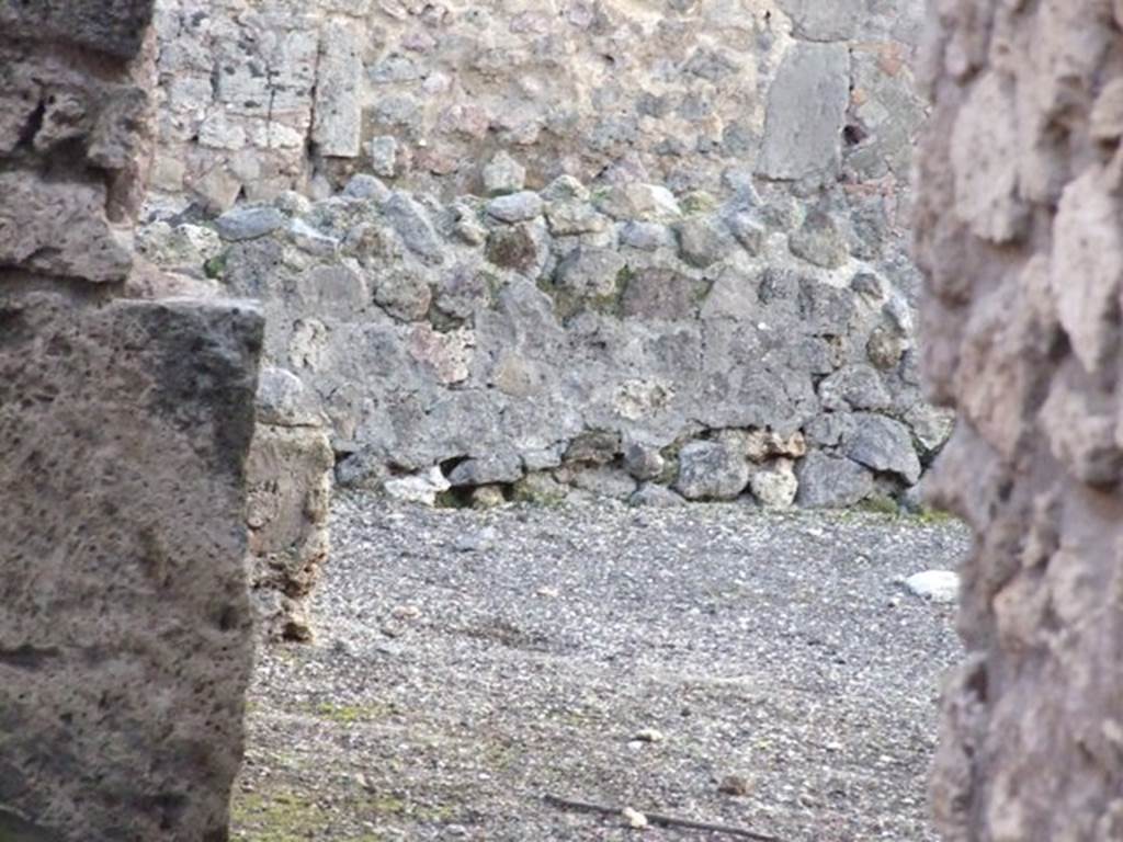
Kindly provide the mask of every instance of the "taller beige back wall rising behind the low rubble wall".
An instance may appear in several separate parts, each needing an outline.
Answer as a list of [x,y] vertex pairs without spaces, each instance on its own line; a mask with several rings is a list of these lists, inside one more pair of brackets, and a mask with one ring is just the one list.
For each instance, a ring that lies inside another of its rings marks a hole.
[[894,194],[923,113],[922,16],[922,0],[158,0],[155,186],[225,210],[371,172],[448,199],[480,193],[506,150],[532,187],[841,177]]

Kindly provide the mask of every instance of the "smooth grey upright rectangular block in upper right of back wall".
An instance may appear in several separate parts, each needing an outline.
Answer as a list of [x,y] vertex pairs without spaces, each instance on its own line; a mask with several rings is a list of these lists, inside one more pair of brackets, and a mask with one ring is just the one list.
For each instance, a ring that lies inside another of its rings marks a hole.
[[757,172],[769,179],[838,172],[849,98],[850,54],[844,45],[793,45],[768,91]]

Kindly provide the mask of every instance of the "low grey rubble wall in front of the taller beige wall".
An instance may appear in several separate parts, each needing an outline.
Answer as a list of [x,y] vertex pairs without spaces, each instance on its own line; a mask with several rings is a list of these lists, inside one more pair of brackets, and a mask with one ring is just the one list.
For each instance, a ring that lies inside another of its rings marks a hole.
[[[566,219],[595,225],[554,232],[559,202]],[[907,267],[803,259],[788,242],[798,214],[745,198],[676,205],[672,226],[615,218],[658,217],[670,202],[652,185],[597,196],[572,179],[450,204],[376,189],[312,203],[286,194],[219,217],[222,250],[195,273],[263,302],[266,356],[329,419],[347,485],[466,503],[472,488],[515,496],[524,475],[551,472],[563,493],[631,495],[630,481],[595,468],[672,486],[679,454],[720,438],[736,440],[737,487],[694,477],[701,491],[679,486],[686,496],[748,495],[749,461],[809,448],[869,470],[844,463],[853,482],[800,500],[858,502],[875,491],[862,482],[871,472],[901,496],[950,432],[916,383]],[[542,208],[546,219],[528,219]],[[752,249],[728,227],[741,214],[759,218]],[[465,220],[481,236],[463,237]],[[661,235],[637,247],[639,226]],[[181,267],[184,236],[164,222],[141,230],[150,254]],[[896,338],[895,363],[870,358],[878,335]],[[641,459],[629,459],[633,446]],[[767,494],[783,502],[794,477],[776,479]]]

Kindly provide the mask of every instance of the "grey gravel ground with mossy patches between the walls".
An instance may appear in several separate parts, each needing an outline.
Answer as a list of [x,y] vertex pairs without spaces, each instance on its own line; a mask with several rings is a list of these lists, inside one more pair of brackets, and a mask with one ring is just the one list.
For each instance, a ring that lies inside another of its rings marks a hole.
[[343,496],[318,640],[261,653],[236,838],[934,840],[955,521]]

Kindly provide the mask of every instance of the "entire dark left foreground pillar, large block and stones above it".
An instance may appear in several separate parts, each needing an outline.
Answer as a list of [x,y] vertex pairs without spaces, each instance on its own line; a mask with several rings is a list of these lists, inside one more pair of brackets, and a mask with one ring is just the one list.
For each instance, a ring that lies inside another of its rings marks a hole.
[[0,0],[0,839],[218,842],[262,319],[138,265],[152,0]]

